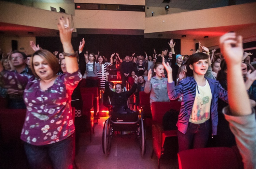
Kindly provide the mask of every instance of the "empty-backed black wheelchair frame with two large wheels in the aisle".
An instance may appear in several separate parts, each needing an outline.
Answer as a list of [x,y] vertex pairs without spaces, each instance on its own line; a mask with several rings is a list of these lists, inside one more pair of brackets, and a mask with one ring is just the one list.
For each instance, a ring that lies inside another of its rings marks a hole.
[[[131,111],[127,114],[113,113],[113,109],[111,109],[110,116],[105,120],[102,132],[102,150],[106,157],[110,154],[111,140],[113,137],[132,136],[139,140],[141,157],[144,156],[146,152],[146,138],[142,114],[142,111]],[[123,134],[125,132],[130,133]]]

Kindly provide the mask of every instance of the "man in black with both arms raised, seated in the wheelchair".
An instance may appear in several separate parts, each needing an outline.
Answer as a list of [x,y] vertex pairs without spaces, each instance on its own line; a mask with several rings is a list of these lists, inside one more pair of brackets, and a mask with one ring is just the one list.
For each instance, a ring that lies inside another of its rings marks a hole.
[[108,74],[106,75],[106,83],[105,83],[105,93],[110,97],[111,105],[113,107],[113,112],[123,113],[130,112],[127,105],[127,99],[136,91],[138,76],[135,75],[134,84],[129,91],[123,92],[124,86],[120,83],[117,83],[115,86],[115,92],[110,90],[109,82],[108,82]]

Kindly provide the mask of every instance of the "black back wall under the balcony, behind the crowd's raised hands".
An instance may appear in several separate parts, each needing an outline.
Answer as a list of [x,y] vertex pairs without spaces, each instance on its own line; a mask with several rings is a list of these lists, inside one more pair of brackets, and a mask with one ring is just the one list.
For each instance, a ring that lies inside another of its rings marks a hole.
[[[161,54],[163,47],[170,50],[168,42],[170,39],[153,39],[144,38],[143,35],[93,35],[93,34],[79,34],[77,37],[72,37],[72,45],[74,50],[78,50],[79,43],[85,39],[84,52],[86,50],[89,53],[97,53],[100,51],[100,55],[104,55],[109,58],[112,53],[117,52],[121,58],[126,55],[144,55],[144,51],[148,56],[152,56],[154,48],[157,54]],[[181,40],[174,39],[175,53],[180,54],[181,51]],[[59,37],[36,37],[36,43],[39,44],[43,49],[47,49],[51,52],[62,51],[62,45]]]

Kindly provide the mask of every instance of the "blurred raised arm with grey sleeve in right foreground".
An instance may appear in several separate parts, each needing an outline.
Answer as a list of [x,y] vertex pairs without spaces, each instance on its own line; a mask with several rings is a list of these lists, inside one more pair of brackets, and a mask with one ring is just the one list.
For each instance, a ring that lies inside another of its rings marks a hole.
[[244,168],[255,168],[256,121],[255,113],[252,114],[241,71],[242,37],[236,36],[236,33],[227,33],[219,39],[219,43],[227,62],[227,87],[230,105],[230,112],[227,108],[224,108],[223,112],[232,133],[236,137]]

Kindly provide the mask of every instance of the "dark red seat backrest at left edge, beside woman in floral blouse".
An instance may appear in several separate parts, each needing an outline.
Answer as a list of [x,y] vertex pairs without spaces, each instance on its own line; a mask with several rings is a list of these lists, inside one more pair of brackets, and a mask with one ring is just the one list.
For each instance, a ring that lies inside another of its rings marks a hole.
[[0,109],[0,134],[2,143],[19,140],[27,109]]

